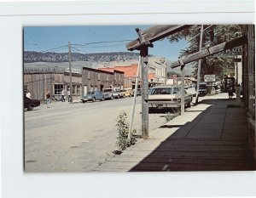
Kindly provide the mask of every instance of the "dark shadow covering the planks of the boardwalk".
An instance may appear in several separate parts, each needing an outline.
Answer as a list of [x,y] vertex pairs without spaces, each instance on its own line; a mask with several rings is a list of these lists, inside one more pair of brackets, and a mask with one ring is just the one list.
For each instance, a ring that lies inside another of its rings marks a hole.
[[[229,99],[207,99],[203,104],[209,105],[206,110],[191,109],[191,113],[201,111],[192,121],[162,126],[177,130],[130,172],[255,170],[247,148],[245,110]],[[133,151],[130,160],[147,150]]]

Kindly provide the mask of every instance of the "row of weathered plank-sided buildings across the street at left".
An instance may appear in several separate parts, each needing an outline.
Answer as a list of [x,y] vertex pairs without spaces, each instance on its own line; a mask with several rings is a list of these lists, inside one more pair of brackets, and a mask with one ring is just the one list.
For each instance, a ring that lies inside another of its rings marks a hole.
[[[45,99],[45,93],[49,90],[52,99],[61,99],[61,90],[67,90],[70,86],[70,77],[67,68],[49,67],[26,68],[23,76],[24,87],[31,93],[32,99]],[[82,70],[72,70],[73,99],[80,99],[91,90],[124,86],[124,72],[100,71],[83,67]]]

